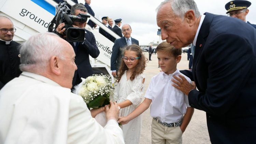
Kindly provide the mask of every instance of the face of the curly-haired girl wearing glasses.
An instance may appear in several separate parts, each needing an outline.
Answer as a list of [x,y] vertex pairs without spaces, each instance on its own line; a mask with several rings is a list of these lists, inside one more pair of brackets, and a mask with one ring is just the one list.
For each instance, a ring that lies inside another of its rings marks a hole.
[[[137,58],[138,57],[137,53],[134,51],[125,51],[124,56],[127,58],[131,58],[131,57]],[[134,68],[136,67],[138,62],[139,62],[139,59],[135,59],[133,62],[131,62],[130,59],[128,59],[127,61],[125,61],[125,65],[129,69],[129,71],[134,71]]]

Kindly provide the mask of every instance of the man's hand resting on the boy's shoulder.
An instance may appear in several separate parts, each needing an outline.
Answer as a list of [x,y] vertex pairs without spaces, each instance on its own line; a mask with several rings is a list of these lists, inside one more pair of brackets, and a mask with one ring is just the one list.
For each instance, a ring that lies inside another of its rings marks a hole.
[[173,78],[174,79],[172,79],[172,86],[181,90],[187,96],[191,90],[196,89],[195,82],[192,81],[192,84],[190,84],[183,75],[179,75],[179,77],[174,75]]

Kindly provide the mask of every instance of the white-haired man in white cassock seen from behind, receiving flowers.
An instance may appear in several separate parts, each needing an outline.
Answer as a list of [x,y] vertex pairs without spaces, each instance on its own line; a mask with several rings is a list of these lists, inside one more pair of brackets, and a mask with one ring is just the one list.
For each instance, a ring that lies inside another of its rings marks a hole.
[[[20,49],[23,73],[0,91],[0,144],[124,144],[116,103],[88,110],[71,93],[72,46],[53,33],[33,35]],[[92,117],[105,110],[103,128]]]

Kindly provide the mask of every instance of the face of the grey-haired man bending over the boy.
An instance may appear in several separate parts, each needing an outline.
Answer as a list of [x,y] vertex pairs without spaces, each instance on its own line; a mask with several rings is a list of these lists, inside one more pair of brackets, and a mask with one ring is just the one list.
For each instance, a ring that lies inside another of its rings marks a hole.
[[158,27],[161,28],[162,40],[166,40],[175,48],[186,47],[193,42],[195,33],[188,23],[190,19],[176,16],[170,3],[164,4],[158,10],[156,19]]

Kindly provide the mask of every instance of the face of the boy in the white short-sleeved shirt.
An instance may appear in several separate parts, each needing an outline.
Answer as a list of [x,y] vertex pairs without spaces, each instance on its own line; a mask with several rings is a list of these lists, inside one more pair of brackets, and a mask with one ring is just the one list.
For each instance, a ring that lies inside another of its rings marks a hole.
[[181,60],[181,55],[175,58],[173,55],[160,51],[157,52],[158,65],[161,68],[162,72],[165,72],[167,75],[172,74],[177,69],[177,63]]

